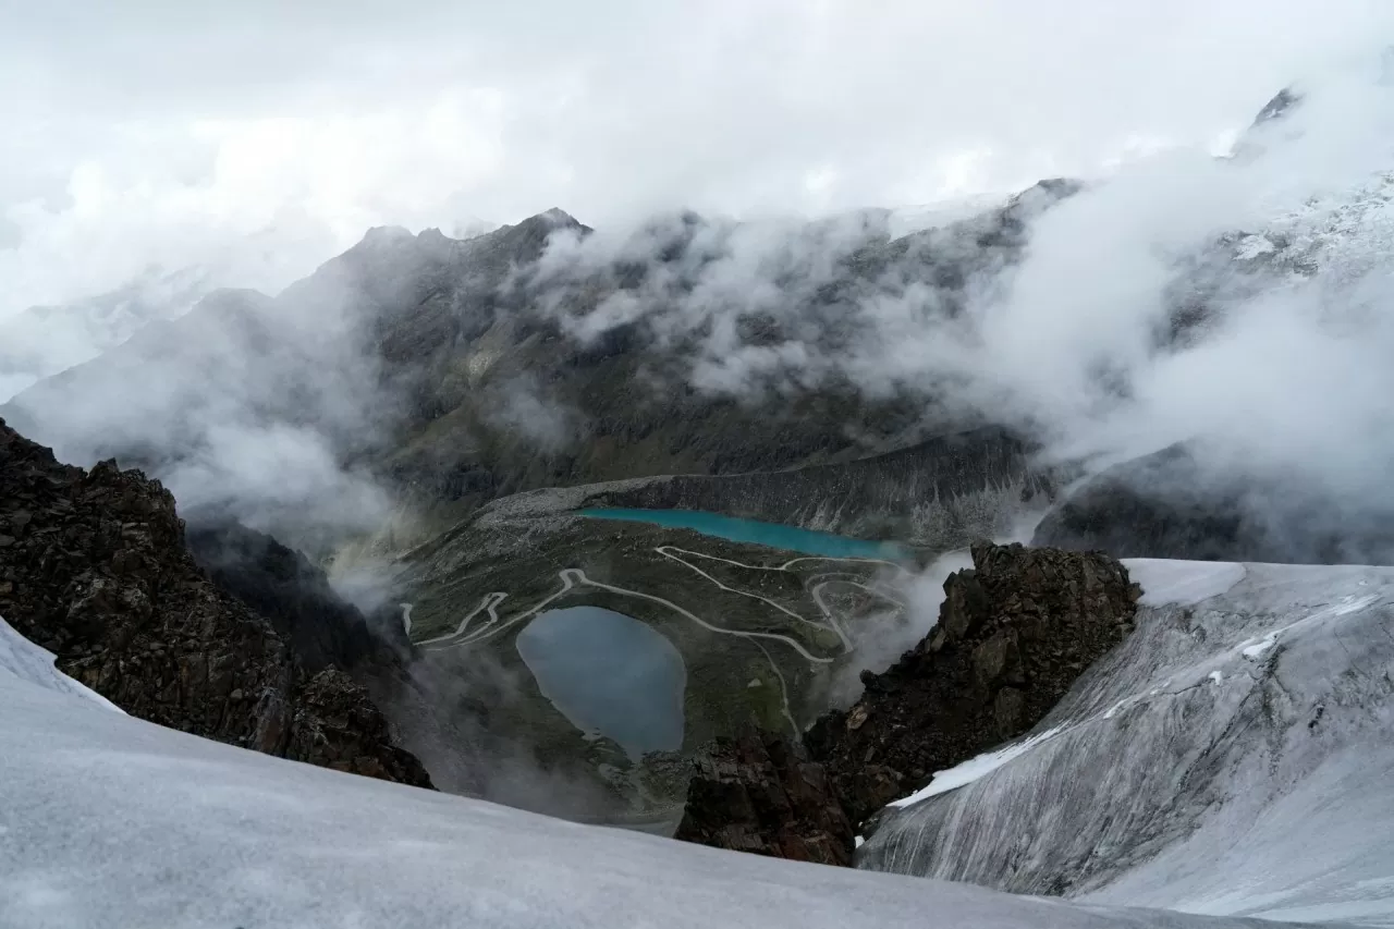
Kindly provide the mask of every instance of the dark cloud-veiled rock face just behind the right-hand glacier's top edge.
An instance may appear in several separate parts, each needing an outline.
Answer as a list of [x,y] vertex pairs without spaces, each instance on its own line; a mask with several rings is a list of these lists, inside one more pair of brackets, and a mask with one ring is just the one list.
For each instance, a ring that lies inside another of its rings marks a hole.
[[1394,513],[1269,473],[1210,466],[1188,444],[1117,464],[1051,511],[1032,540],[1115,558],[1387,564]]

